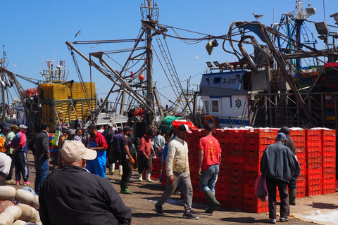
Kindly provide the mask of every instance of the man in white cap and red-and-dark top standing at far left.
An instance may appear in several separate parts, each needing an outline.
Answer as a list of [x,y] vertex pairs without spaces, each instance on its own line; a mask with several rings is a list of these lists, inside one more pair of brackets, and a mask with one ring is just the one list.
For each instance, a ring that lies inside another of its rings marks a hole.
[[16,185],[20,185],[21,174],[23,175],[24,185],[32,184],[30,181],[28,181],[28,177],[30,176],[30,168],[28,167],[27,159],[27,128],[27,126],[21,124],[19,126],[18,133],[15,134],[11,144],[9,145],[11,148],[14,148],[13,155]]

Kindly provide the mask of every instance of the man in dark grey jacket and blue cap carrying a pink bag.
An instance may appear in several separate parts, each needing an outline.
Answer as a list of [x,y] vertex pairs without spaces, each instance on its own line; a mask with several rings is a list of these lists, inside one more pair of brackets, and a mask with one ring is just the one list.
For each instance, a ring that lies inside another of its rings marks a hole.
[[265,148],[261,159],[261,173],[266,177],[269,198],[270,223],[276,223],[276,186],[280,191],[280,221],[288,221],[289,218],[289,195],[287,184],[292,177],[299,176],[299,163],[292,151],[284,146],[287,137],[278,133],[276,143]]

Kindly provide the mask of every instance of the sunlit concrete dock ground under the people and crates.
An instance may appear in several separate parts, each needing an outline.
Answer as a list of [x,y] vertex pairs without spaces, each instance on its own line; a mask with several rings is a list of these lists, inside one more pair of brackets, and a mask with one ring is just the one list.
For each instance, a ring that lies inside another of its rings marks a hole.
[[[28,153],[30,161],[30,179],[34,189],[35,167],[31,153]],[[56,169],[51,167],[50,170]],[[107,171],[108,172],[108,171]],[[199,216],[198,220],[182,219],[183,201],[180,195],[172,195],[165,205],[163,212],[165,217],[158,217],[154,210],[154,204],[161,197],[165,187],[161,186],[158,179],[154,183],[137,181],[137,170],[133,170],[130,181],[132,195],[120,194],[125,205],[132,210],[132,224],[155,225],[155,224],[268,224],[268,213],[247,213],[225,208],[218,208],[212,215],[205,214],[206,205],[193,204],[193,211]],[[120,193],[120,176],[118,174],[107,175],[113,187]],[[114,181],[113,181],[114,180]],[[15,186],[22,188],[23,186]],[[278,210],[277,210],[278,211]],[[338,193],[317,195],[313,197],[297,198],[296,206],[290,206],[291,216],[289,221],[280,222],[277,217],[277,224],[338,224]]]

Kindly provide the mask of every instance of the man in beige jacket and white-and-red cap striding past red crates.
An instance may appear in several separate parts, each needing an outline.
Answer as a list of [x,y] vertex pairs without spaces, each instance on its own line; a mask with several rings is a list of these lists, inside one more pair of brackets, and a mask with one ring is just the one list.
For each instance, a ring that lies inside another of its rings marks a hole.
[[156,214],[163,216],[162,205],[170,198],[180,185],[184,195],[184,219],[199,219],[192,213],[192,181],[190,180],[188,145],[184,141],[192,133],[186,124],[177,129],[177,136],[168,144],[168,155],[165,169],[167,171],[167,188],[155,204]]

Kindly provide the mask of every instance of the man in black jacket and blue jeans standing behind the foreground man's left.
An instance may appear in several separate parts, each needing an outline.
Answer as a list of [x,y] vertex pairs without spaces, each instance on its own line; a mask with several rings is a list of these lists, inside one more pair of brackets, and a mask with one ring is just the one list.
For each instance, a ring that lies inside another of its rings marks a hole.
[[49,124],[44,122],[41,124],[41,131],[35,137],[35,149],[32,152],[35,159],[35,193],[39,195],[39,188],[44,179],[46,179],[49,169],[49,138],[48,138]]

